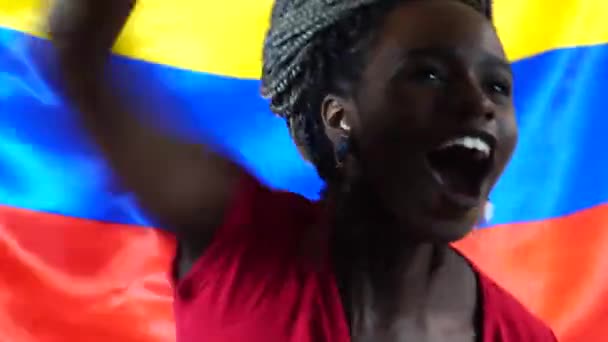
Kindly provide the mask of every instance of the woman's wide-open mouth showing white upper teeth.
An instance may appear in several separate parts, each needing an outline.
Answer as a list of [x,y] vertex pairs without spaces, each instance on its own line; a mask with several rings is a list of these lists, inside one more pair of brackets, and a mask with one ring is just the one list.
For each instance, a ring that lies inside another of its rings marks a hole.
[[495,141],[485,134],[449,139],[427,155],[433,175],[448,193],[478,201],[492,169]]

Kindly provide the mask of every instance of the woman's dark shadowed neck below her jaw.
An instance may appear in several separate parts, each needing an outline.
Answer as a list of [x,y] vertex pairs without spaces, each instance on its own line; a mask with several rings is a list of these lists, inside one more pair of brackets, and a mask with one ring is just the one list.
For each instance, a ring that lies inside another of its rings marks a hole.
[[425,284],[446,259],[448,245],[412,240],[365,186],[327,192],[334,215],[334,257],[347,278],[368,278],[385,289],[403,281]]

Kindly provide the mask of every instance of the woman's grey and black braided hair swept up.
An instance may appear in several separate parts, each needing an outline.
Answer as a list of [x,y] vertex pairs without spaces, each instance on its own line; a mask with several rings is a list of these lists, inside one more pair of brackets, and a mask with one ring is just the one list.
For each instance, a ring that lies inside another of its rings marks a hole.
[[[380,21],[404,0],[276,0],[263,52],[262,96],[283,117],[304,157],[325,181],[336,178],[335,151],[319,108],[352,91]],[[419,0],[423,1],[423,0]],[[491,0],[457,0],[491,19]]]

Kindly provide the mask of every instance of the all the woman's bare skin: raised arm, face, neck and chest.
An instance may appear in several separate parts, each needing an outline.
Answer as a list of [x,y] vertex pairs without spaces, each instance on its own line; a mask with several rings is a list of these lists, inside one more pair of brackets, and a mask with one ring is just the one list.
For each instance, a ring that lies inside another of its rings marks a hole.
[[[58,6],[50,25],[66,94],[124,185],[176,230],[183,274],[208,245],[244,171],[206,146],[135,121],[137,108],[111,92],[105,61],[128,2],[72,4]],[[348,267],[337,265],[354,341],[475,341],[476,277],[447,243],[477,222],[513,152],[511,82],[485,17],[457,1],[408,1],[385,19],[352,94],[327,94],[326,133],[334,142],[354,136],[358,158],[347,158],[345,172],[368,184],[368,196],[345,208],[364,238],[353,242]],[[492,135],[496,149],[479,198],[463,206],[431,176],[426,155],[471,129]]]

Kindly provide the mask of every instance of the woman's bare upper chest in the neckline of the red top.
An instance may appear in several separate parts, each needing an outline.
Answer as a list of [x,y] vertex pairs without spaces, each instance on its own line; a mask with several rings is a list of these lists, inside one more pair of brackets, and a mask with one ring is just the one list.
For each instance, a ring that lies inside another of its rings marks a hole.
[[432,279],[391,278],[390,286],[338,276],[351,341],[481,341],[477,277],[466,264],[452,264]]

